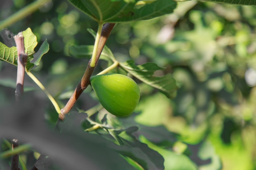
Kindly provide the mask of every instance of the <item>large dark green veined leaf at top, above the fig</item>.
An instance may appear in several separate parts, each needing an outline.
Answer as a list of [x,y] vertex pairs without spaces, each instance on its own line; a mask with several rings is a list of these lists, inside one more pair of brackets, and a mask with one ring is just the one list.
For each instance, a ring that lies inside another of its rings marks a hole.
[[149,20],[176,8],[173,0],[156,0],[140,7],[138,0],[69,0],[74,6],[98,22],[133,22]]

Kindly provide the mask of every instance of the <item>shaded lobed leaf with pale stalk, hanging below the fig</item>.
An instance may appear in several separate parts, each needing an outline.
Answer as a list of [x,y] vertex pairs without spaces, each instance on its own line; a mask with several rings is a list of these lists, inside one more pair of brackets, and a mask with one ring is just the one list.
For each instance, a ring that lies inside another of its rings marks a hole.
[[[106,116],[106,115],[105,115]],[[104,116],[104,117],[105,117]],[[104,119],[103,117],[103,119]],[[163,170],[164,169],[164,158],[155,150],[149,148],[146,144],[141,143],[137,137],[133,134],[137,132],[139,128],[137,126],[132,126],[126,129],[115,129],[108,126],[108,124],[92,121],[87,118],[82,122],[82,128],[84,130],[91,128],[95,124],[99,124],[101,128],[106,130],[106,133],[99,133],[101,136],[109,139],[109,135],[115,139],[116,143],[112,143],[110,148],[117,151],[119,154],[124,156],[124,158],[133,166],[137,165],[141,170]],[[97,129],[99,130],[99,129]],[[169,137],[167,137],[169,139]],[[112,140],[112,139],[111,139]]]

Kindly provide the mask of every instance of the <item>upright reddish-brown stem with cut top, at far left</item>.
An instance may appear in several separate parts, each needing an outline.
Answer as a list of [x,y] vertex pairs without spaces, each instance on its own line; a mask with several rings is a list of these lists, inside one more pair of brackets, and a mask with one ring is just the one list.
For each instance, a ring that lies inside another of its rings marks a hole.
[[17,81],[16,81],[16,91],[15,97],[16,101],[20,99],[24,92],[24,75],[25,75],[25,66],[27,63],[27,54],[25,54],[25,47],[24,47],[24,37],[22,32],[18,33],[14,37],[17,52],[18,52],[18,60],[17,60]]

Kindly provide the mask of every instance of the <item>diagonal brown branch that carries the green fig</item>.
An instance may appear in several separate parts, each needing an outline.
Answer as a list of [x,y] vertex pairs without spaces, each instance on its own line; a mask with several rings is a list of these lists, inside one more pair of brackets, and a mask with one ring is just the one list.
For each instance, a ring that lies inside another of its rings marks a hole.
[[97,49],[97,54],[96,54],[96,61],[95,61],[95,66],[91,67],[90,62],[88,63],[88,66],[85,70],[85,73],[83,74],[83,77],[79,84],[77,85],[74,93],[70,97],[69,101],[67,102],[66,106],[61,109],[61,114],[59,114],[59,119],[64,120],[65,115],[70,112],[70,110],[73,108],[74,104],[76,103],[77,99],[79,96],[83,93],[85,88],[90,84],[90,77],[92,76],[92,73],[94,71],[94,68],[97,66],[97,63],[99,61],[99,57],[101,55],[101,52],[106,44],[106,41],[108,40],[108,37],[114,28],[115,23],[106,23],[103,25],[102,31],[101,31],[101,37],[99,40],[99,45]]

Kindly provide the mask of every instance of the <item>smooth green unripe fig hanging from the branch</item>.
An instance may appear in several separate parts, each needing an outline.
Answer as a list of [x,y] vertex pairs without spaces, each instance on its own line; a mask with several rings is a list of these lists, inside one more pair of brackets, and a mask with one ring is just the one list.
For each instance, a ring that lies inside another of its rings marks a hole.
[[139,102],[139,86],[126,75],[95,75],[90,82],[101,105],[113,115],[128,116]]

